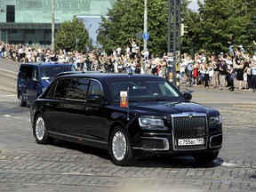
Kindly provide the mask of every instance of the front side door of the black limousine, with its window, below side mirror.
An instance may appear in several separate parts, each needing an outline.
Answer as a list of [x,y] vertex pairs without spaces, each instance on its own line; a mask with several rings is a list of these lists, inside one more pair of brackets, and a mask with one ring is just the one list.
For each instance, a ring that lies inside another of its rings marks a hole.
[[[95,99],[95,96],[98,99]],[[92,140],[108,140],[108,114],[104,107],[105,94],[103,87],[98,80],[92,79],[89,85],[86,100],[84,101],[84,111],[82,122],[84,124],[81,134]]]

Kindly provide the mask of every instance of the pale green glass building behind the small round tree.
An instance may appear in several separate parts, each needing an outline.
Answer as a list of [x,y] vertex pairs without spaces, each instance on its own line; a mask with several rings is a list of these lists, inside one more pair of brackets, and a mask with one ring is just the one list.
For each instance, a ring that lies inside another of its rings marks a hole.
[[[96,44],[100,16],[116,0],[0,0],[0,39],[10,44],[41,44],[52,42],[52,7],[54,28],[78,17],[84,21],[92,42]],[[54,3],[52,6],[52,2]]]

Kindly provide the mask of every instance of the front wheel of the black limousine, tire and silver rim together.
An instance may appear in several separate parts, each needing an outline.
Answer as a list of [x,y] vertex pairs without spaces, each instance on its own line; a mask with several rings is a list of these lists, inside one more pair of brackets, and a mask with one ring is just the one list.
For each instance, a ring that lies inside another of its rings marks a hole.
[[109,154],[116,165],[131,166],[136,164],[127,133],[120,126],[114,128],[109,142]]

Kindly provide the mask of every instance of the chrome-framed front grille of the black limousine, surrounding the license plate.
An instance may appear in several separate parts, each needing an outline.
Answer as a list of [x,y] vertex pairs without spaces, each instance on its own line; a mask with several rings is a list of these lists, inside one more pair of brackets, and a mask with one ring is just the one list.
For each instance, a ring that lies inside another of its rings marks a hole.
[[[205,114],[185,113],[172,115],[172,140],[174,150],[200,150],[206,148],[207,120]],[[204,138],[204,145],[178,146],[180,139]]]

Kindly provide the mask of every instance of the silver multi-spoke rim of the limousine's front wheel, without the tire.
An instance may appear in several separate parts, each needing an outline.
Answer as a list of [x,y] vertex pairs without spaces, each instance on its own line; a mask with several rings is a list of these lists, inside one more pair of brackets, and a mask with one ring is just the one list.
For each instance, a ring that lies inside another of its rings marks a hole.
[[127,141],[123,132],[116,132],[112,140],[112,151],[117,161],[122,161],[126,154]]

